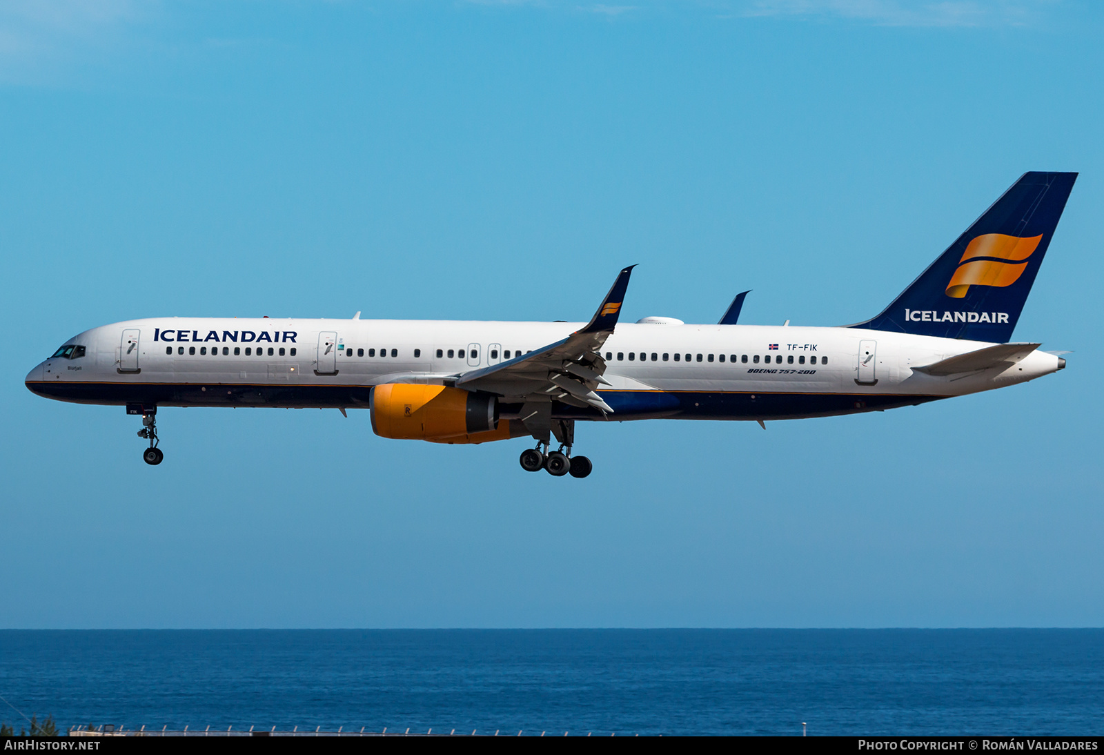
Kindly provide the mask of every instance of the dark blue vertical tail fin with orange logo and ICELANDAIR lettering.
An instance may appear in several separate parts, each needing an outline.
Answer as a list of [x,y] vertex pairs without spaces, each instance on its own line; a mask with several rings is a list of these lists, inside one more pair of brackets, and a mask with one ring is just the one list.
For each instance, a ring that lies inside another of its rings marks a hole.
[[1010,341],[1076,178],[1025,173],[885,311],[851,327]]

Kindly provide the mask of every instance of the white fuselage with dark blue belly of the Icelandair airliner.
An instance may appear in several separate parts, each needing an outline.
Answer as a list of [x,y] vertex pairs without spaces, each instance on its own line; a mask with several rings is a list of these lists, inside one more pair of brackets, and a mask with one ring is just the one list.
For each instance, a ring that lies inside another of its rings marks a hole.
[[[367,407],[373,385],[449,384],[583,325],[131,320],[70,339],[84,355],[47,359],[26,383],[35,393],[81,403]],[[602,348],[609,384],[598,393],[614,408],[609,419],[777,419],[915,404],[1060,369],[1058,357],[1033,351],[1018,363],[965,374],[913,370],[987,345],[856,328],[622,323]],[[510,396],[501,401],[508,405]],[[565,411],[572,418],[604,418]]]

